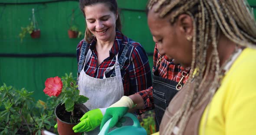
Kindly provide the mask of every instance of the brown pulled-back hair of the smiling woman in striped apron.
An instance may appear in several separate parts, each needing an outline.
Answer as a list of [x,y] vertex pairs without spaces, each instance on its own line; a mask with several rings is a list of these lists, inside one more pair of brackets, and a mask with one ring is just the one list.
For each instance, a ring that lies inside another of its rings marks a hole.
[[[80,10],[82,11],[83,15],[85,16],[84,13],[84,8],[85,6],[92,6],[98,3],[103,3],[106,6],[109,7],[109,10],[112,11],[115,14],[118,14],[118,6],[116,0],[79,0],[79,7]],[[121,20],[118,14],[118,18],[115,22],[115,29],[121,32]],[[89,29],[86,27],[85,30],[85,40],[86,42],[92,42],[92,39],[94,38],[94,35],[92,32],[89,31]]]

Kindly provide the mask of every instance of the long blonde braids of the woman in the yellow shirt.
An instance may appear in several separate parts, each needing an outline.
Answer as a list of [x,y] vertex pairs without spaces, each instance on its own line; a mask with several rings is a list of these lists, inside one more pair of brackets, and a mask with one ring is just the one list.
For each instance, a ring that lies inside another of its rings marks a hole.
[[[217,51],[220,33],[237,45],[256,48],[256,22],[246,0],[149,0],[147,10],[152,10],[154,5],[154,12],[159,13],[160,18],[170,14],[171,24],[184,13],[193,18],[192,62],[190,77],[186,83],[190,93],[185,96],[184,103],[177,113],[164,125],[164,135],[171,134],[179,122],[178,135],[181,135],[193,109],[205,100],[211,100],[220,86],[222,74]],[[207,48],[210,46],[213,51],[206,62]],[[208,73],[214,74],[213,80],[206,79]],[[193,87],[192,80],[195,83]],[[202,92],[197,90],[208,84],[210,88],[206,90],[206,96],[201,98]]]

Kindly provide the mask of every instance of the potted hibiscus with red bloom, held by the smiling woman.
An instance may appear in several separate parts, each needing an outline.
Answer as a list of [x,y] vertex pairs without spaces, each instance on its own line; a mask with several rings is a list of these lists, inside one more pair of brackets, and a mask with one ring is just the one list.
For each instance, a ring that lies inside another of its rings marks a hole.
[[79,95],[78,85],[72,78],[72,73],[65,77],[50,77],[46,79],[45,89],[43,90],[49,96],[56,96],[60,103],[55,108],[57,118],[58,132],[60,135],[79,135],[74,133],[72,128],[79,119],[88,111],[83,105],[87,97]]

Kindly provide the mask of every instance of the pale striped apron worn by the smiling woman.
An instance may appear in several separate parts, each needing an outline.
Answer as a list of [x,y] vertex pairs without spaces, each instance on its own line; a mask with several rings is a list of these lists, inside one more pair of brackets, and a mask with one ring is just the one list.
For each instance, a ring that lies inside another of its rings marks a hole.
[[[89,109],[97,109],[97,108],[106,108],[111,106],[113,103],[117,102],[124,96],[124,87],[122,83],[122,77],[120,72],[120,66],[118,62],[118,54],[116,55],[115,65],[112,67],[108,67],[104,73],[103,79],[98,79],[94,77],[90,77],[84,71],[85,64],[89,61],[89,58],[92,55],[91,49],[87,52],[85,63],[82,68],[82,71],[79,75],[79,90],[80,95],[84,95],[89,98],[89,100],[84,103],[84,105]],[[105,74],[115,68],[116,76],[106,78]],[[127,118],[127,121],[122,123],[123,125],[132,125],[133,121],[131,118]],[[112,128],[110,130],[113,130]],[[86,132],[85,135],[98,135],[99,126],[91,131]]]

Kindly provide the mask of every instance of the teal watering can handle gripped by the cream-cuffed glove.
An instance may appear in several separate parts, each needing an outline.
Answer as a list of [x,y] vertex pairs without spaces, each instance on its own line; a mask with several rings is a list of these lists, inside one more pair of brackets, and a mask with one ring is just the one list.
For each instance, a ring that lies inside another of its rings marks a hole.
[[[135,117],[135,115],[131,113],[126,113],[123,117],[130,117],[133,120],[133,125],[136,128],[141,128],[141,124],[139,120]],[[112,119],[112,118],[111,118]],[[107,135],[109,130],[109,123],[111,119],[108,119],[108,121],[103,125],[102,130],[99,132],[98,135]]]

